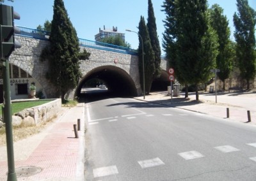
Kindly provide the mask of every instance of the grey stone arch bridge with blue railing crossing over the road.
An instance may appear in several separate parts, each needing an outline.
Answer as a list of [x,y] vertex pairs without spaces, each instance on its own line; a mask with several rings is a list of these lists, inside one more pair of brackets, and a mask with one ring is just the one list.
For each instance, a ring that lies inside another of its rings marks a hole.
[[[40,88],[46,98],[54,98],[54,86],[45,78],[48,62],[39,60],[44,47],[49,46],[49,35],[46,32],[35,29],[24,27],[20,27],[20,29],[21,34],[16,35],[15,40],[19,41],[22,47],[16,49],[10,55],[10,64],[27,73],[26,81],[28,86],[29,83],[36,82],[36,90]],[[141,94],[138,55],[135,50],[83,39],[79,39],[79,43],[81,50],[85,48],[91,55],[89,60],[80,61],[80,69],[83,76],[76,89],[65,95],[66,98],[75,98],[81,92],[84,83],[92,78],[99,78],[106,82],[109,91],[122,92],[129,96]],[[161,61],[161,69],[162,75],[156,82],[168,82],[168,73],[166,71],[168,67],[165,59]],[[20,73],[19,78],[22,78]],[[17,83],[19,82],[11,77],[11,85]],[[17,90],[15,95],[12,94],[12,99],[20,98],[19,96],[17,97]]]

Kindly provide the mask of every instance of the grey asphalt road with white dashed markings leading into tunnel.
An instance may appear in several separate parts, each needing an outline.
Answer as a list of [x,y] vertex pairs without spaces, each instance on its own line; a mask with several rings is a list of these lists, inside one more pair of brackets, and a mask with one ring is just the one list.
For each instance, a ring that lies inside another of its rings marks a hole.
[[256,127],[131,98],[86,103],[86,180],[256,180]]

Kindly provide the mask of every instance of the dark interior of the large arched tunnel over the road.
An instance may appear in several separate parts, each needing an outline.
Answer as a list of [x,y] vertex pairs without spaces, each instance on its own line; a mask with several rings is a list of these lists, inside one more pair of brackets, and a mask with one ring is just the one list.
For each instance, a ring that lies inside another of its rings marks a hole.
[[108,87],[108,96],[116,97],[132,97],[137,96],[137,90],[131,76],[123,69],[116,66],[100,66],[88,72],[77,86],[75,97],[81,98],[84,96],[81,89],[86,85],[88,80],[97,78],[104,82]]

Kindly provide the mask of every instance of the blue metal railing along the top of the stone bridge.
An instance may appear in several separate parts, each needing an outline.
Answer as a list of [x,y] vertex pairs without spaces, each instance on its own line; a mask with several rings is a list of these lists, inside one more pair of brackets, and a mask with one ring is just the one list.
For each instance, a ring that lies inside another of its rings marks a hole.
[[[31,29],[28,27],[22,27],[18,26],[20,28],[20,34],[19,36],[26,36],[29,38],[35,38],[39,40],[49,40],[50,32],[48,31],[41,31],[37,29]],[[121,47],[117,45],[112,45],[108,43],[102,43],[100,41],[91,41],[91,40],[85,40],[82,38],[78,38],[79,45],[82,47],[90,47],[90,48],[96,48],[99,50],[107,50],[111,52],[118,52],[123,54],[131,54],[131,55],[138,55],[138,50],[133,50],[131,48],[127,47]]]

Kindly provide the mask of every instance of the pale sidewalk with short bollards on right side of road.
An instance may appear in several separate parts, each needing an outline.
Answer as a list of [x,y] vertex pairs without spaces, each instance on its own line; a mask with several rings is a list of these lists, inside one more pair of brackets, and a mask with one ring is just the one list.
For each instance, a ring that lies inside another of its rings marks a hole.
[[[189,99],[185,99],[184,94],[171,98],[167,96],[167,91],[152,92],[145,96],[145,99],[143,97],[137,99],[243,123],[248,122],[248,111],[250,111],[251,122],[246,124],[256,125],[256,92],[221,92],[217,94],[217,103],[215,94],[209,93],[200,93],[200,101],[195,101],[195,93],[189,93]],[[227,118],[227,108],[229,118]]]

